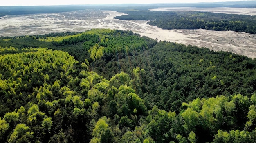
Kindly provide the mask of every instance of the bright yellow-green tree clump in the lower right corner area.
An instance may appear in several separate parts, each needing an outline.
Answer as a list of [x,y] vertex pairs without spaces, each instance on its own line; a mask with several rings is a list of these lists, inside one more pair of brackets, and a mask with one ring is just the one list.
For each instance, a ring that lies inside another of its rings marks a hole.
[[[248,108],[247,117],[249,121],[245,127],[249,128],[255,123],[256,115],[255,105],[249,106],[250,102],[252,100],[250,101],[247,96],[237,94],[231,97],[221,95],[216,98],[197,98],[189,102],[189,104],[183,103],[182,106],[187,108],[181,114],[185,121],[184,128],[189,133],[190,131],[195,131],[195,126],[201,124],[209,131],[217,132],[217,128],[223,122],[234,124],[234,116],[238,109],[245,110]],[[246,113],[244,114],[246,115]]]

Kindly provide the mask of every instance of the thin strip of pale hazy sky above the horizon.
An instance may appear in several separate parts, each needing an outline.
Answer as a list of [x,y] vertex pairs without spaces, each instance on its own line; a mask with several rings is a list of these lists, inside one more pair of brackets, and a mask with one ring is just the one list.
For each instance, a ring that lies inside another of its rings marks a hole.
[[220,2],[241,0],[1,0],[0,6],[68,5],[68,4],[149,4],[181,2]]

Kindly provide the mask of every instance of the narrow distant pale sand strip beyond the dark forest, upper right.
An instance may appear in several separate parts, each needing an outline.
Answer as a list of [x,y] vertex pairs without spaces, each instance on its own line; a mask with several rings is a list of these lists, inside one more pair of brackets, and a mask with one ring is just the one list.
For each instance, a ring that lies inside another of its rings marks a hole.
[[193,8],[193,7],[159,7],[157,9],[149,9],[150,11],[202,11],[212,13],[227,13],[227,14],[244,14],[256,15],[256,8]]

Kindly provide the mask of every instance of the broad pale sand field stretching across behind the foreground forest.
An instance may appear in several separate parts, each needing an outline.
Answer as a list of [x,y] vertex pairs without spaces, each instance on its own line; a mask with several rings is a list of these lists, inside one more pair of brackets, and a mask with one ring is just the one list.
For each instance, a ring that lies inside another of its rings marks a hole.
[[7,15],[0,19],[0,36],[39,35],[51,32],[81,32],[92,28],[132,30],[141,36],[213,50],[230,51],[256,58],[256,35],[209,30],[163,30],[141,20],[118,20],[116,11],[83,10],[64,13]]

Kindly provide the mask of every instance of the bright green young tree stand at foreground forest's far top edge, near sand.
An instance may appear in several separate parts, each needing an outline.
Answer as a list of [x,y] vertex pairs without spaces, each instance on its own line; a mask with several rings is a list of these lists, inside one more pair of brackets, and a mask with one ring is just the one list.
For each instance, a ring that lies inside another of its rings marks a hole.
[[94,61],[100,59],[104,53],[126,53],[147,49],[145,39],[134,35],[131,31],[92,29],[79,34],[56,37],[33,37],[39,41],[54,42],[56,45],[74,45],[83,42],[85,50]]

